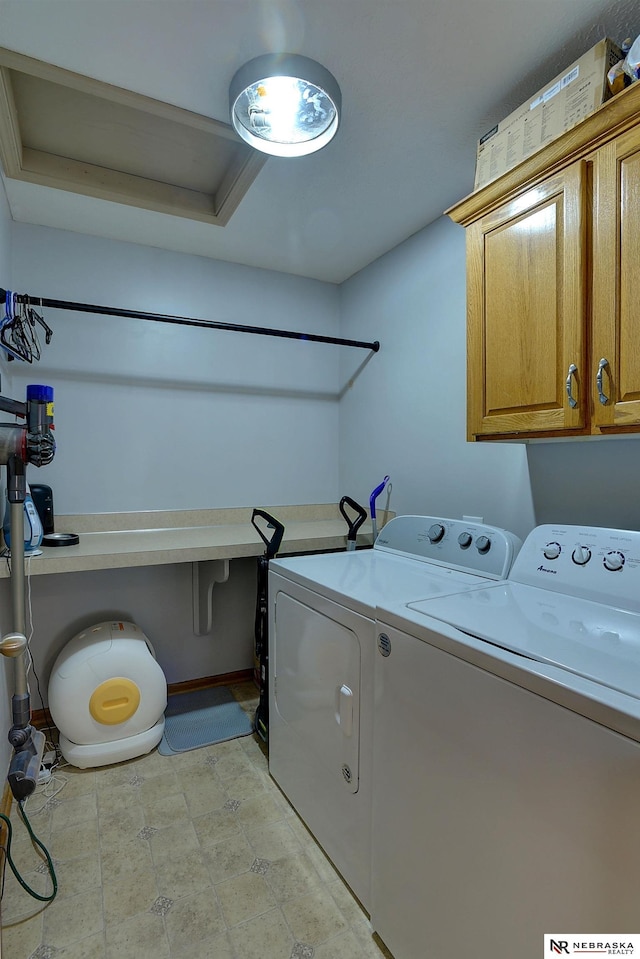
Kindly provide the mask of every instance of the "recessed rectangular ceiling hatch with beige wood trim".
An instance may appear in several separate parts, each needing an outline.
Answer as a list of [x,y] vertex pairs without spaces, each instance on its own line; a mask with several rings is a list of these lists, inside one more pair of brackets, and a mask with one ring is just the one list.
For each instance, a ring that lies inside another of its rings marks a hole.
[[5,175],[228,222],[266,162],[229,124],[0,47]]

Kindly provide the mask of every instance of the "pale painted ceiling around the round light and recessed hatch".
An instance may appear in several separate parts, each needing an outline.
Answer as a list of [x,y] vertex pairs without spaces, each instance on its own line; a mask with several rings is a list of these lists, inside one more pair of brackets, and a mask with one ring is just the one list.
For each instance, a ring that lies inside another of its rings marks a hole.
[[2,46],[228,122],[236,69],[270,51],[328,67],[338,136],[270,158],[224,226],[5,180],[14,220],[334,283],[473,186],[478,138],[637,0],[0,0]]

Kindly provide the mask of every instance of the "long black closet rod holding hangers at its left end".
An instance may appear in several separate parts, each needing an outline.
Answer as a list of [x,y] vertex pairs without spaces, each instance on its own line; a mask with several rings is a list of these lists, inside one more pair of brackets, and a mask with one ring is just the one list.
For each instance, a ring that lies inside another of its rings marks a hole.
[[[0,289],[0,301],[6,290]],[[358,346],[377,353],[380,343],[365,343],[362,340],[345,340],[339,336],[321,336],[318,333],[296,333],[292,330],[272,330],[268,326],[243,326],[240,323],[219,323],[216,320],[196,320],[189,316],[171,316],[165,313],[143,313],[139,310],[116,309],[112,306],[95,306],[91,303],[72,303],[68,300],[50,300],[45,297],[17,293],[18,303],[29,303],[51,310],[75,310],[77,313],[101,313],[105,316],[123,316],[132,320],[154,320],[157,323],[174,323],[178,326],[200,326],[211,330],[229,330],[232,333],[256,333],[259,336],[280,336],[289,340],[310,340],[312,343],[333,343],[337,346]]]

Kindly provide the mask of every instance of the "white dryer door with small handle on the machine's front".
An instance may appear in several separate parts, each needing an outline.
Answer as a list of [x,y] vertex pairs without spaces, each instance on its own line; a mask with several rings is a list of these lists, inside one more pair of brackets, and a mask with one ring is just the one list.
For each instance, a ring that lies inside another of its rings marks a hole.
[[[333,607],[339,615],[341,607]],[[314,761],[355,793],[360,767],[360,640],[285,592],[275,599],[274,702]]]

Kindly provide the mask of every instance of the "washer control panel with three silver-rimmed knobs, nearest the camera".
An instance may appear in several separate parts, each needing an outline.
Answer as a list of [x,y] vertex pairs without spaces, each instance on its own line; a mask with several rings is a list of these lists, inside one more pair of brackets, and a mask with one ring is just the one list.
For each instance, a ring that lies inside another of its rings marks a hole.
[[636,608],[640,604],[640,531],[538,526],[527,536],[509,579]]

